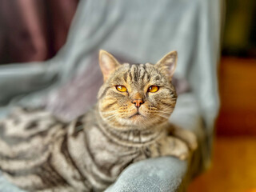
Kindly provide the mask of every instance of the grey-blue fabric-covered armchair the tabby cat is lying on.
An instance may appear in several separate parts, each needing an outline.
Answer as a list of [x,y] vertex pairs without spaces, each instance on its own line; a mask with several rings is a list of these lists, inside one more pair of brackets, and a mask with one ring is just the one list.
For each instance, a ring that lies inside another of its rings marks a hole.
[[[74,118],[96,101],[102,84],[99,49],[124,61],[152,63],[178,50],[175,77],[190,87],[179,94],[170,122],[192,130],[198,150],[186,162],[164,157],[134,163],[106,191],[186,190],[210,163],[219,106],[219,34],[219,1],[81,0],[66,45],[54,58],[0,66],[0,113],[16,105],[46,106],[62,118]],[[56,102],[63,91],[66,97]],[[78,102],[71,102],[74,98]],[[21,190],[0,175],[0,191]]]

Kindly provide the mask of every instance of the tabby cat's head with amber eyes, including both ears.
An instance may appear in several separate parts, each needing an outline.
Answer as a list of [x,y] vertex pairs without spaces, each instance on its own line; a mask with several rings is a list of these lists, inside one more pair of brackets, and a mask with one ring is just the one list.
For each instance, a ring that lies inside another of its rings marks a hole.
[[145,129],[166,122],[176,104],[177,94],[171,84],[176,63],[176,51],[153,65],[120,64],[100,50],[104,84],[98,92],[98,106],[103,120],[120,129]]

